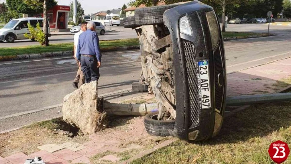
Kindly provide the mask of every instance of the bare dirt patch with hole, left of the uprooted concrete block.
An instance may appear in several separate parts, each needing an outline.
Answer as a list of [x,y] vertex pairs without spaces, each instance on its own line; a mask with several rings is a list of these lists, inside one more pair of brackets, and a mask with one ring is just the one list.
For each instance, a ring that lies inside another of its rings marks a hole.
[[[73,132],[71,133],[70,130]],[[38,146],[54,143],[62,144],[69,141],[84,143],[87,136],[78,136],[79,131],[70,127],[62,119],[52,119],[26,126],[17,131],[0,135],[0,156],[7,157],[23,152],[31,154],[39,151]]]

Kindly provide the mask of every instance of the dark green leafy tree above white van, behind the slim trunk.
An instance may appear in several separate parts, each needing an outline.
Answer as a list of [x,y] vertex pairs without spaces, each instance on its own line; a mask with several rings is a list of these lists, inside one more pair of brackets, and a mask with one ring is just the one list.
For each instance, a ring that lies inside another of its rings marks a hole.
[[[6,3],[11,10],[16,10],[18,13],[24,14],[39,14],[43,12],[44,0],[6,0]],[[56,6],[55,0],[46,0],[47,9]]]

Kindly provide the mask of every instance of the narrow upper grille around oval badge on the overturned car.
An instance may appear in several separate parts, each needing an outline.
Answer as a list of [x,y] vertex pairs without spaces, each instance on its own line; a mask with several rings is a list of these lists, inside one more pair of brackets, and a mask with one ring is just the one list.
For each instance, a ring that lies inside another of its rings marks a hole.
[[[221,110],[221,104],[222,104],[222,99],[223,99],[223,91],[224,91],[224,86],[225,86],[225,81],[224,81],[224,71],[223,71],[223,59],[221,57],[220,49],[219,47],[216,49],[214,52],[214,70],[215,70],[215,108],[217,110]],[[223,83],[222,86],[219,86],[218,83],[218,75],[219,73],[223,77]]]

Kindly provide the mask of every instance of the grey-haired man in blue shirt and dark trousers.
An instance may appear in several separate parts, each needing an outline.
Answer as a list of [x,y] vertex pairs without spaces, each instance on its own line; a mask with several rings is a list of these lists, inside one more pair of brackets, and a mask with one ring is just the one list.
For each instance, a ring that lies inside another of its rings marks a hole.
[[99,38],[95,32],[94,22],[88,22],[87,31],[79,36],[76,58],[81,62],[86,83],[99,79],[99,67],[101,66],[101,53]]

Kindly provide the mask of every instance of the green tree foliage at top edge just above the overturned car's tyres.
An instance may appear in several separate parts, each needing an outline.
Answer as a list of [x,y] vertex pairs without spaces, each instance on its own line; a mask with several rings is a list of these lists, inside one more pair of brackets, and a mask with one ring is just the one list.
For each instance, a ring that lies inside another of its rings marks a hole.
[[178,2],[186,2],[189,0],[131,0],[128,5],[138,7],[141,4],[145,6],[157,6],[157,4],[161,1],[164,1],[166,4],[178,3]]

